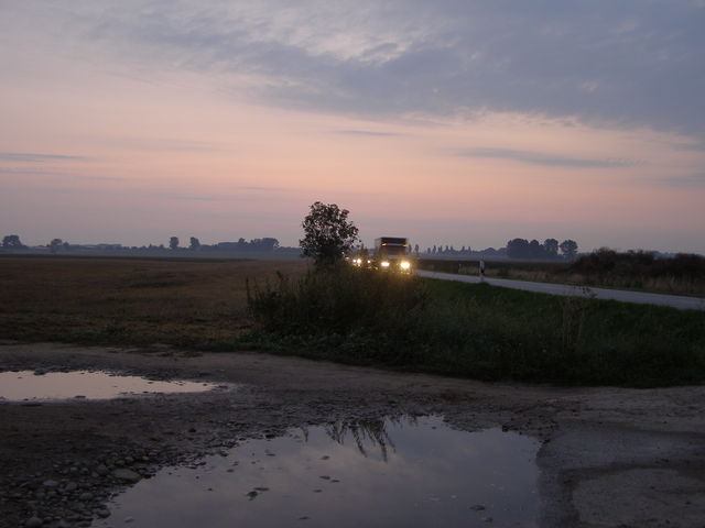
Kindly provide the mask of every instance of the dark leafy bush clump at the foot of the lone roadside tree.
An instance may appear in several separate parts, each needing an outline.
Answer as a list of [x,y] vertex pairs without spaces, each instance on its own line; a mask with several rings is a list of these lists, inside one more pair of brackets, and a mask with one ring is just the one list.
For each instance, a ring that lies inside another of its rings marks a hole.
[[293,282],[279,274],[274,286],[248,286],[250,311],[261,331],[289,343],[368,358],[405,343],[427,301],[415,276],[345,264],[310,271]]

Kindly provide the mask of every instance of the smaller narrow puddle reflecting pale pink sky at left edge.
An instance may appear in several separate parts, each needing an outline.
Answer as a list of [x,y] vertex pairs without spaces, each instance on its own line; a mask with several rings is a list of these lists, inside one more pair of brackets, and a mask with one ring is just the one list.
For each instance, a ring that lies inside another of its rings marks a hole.
[[108,372],[0,372],[0,400],[46,400],[68,398],[109,399],[152,393],[198,393],[219,385],[197,382],[154,382]]

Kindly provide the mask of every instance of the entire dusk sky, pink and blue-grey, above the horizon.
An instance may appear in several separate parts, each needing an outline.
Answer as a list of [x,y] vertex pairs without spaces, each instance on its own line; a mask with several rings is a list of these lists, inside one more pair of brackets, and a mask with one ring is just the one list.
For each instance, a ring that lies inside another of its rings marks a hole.
[[0,234],[705,253],[705,0],[0,0]]

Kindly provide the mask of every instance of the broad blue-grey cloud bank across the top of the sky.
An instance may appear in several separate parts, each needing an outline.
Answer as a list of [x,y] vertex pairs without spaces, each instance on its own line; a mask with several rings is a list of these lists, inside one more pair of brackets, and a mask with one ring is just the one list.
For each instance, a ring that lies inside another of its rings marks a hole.
[[79,35],[72,53],[83,46],[91,61],[216,75],[269,105],[378,119],[510,111],[705,138],[701,3],[44,0],[3,9],[24,16],[18,45],[31,42],[28,26],[59,25],[45,32]]

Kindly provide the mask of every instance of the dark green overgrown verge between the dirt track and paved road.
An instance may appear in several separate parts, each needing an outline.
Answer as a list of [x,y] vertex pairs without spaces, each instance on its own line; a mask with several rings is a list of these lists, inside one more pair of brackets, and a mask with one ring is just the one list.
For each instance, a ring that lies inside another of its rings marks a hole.
[[261,345],[310,358],[556,384],[705,380],[701,311],[338,267],[250,289]]

